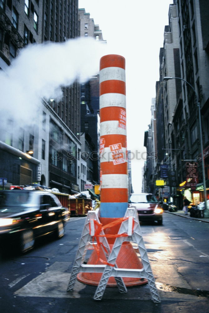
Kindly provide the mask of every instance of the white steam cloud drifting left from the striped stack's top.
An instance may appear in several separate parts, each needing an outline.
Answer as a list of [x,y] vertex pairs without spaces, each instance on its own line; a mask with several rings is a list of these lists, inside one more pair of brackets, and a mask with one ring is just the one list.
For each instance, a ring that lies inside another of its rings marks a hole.
[[[85,82],[99,73],[107,46],[93,38],[27,46],[0,72],[1,117],[25,123],[37,114],[41,97],[60,100],[60,86]],[[27,123],[27,124],[30,124]]]

